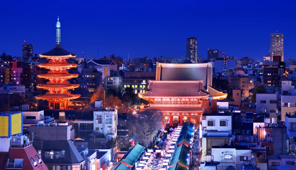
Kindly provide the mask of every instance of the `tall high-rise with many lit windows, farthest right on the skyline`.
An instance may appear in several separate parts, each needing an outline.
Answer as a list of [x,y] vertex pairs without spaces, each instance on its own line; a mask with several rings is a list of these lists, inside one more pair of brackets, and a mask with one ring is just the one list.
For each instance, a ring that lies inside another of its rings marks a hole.
[[284,34],[270,34],[270,60],[273,61],[273,56],[281,56],[281,61],[284,61]]

